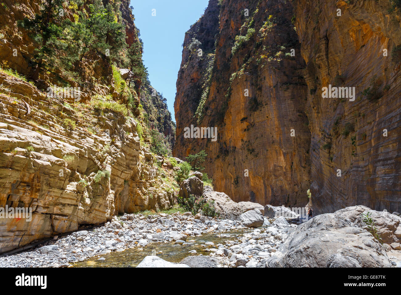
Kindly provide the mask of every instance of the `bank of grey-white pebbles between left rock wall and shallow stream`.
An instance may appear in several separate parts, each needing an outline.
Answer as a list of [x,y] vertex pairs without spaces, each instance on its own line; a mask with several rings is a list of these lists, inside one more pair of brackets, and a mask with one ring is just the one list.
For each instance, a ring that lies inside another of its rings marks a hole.
[[[150,244],[171,244],[172,247],[178,244],[182,247],[192,243],[191,237],[241,230],[245,231],[243,236],[239,234],[235,238],[236,241],[227,241],[229,243],[227,248],[233,246],[237,250],[241,248],[238,245],[243,243],[242,241],[251,240],[250,243],[252,243],[252,238],[259,240],[269,235],[261,234],[264,228],[253,230],[241,226],[240,221],[217,220],[204,216],[195,218],[190,212],[149,216],[125,214],[115,216],[111,222],[99,228],[73,232],[57,240],[46,242],[35,250],[2,257],[0,267],[72,267],[75,263],[89,258],[102,259],[103,255],[112,252],[122,252],[127,249],[142,250]],[[264,246],[261,250],[266,249],[263,252],[268,254],[267,248],[277,246],[280,240],[277,240],[277,244],[275,243],[271,238],[269,246]],[[222,247],[222,244],[214,245],[213,242],[206,242],[202,246],[204,249],[202,252],[211,256],[228,255],[233,252]],[[188,253],[188,256],[193,254],[194,252]],[[265,254],[261,254],[260,258],[262,257],[265,258]],[[224,263],[225,261],[221,262],[221,264]]]

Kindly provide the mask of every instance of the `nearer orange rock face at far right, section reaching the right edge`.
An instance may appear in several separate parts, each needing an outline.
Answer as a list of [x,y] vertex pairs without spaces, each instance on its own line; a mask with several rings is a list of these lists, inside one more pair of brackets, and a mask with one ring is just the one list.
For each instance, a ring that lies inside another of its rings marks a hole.
[[[357,204],[401,211],[400,12],[389,10],[388,1],[297,3],[317,213]],[[355,101],[322,98],[329,84],[355,87]]]

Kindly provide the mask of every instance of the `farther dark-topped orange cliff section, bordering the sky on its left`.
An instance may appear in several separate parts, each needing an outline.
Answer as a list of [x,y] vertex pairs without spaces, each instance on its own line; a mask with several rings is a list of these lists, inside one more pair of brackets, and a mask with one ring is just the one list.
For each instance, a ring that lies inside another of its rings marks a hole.
[[[184,159],[205,150],[205,172],[217,191],[235,201],[303,207],[310,187],[310,130],[292,4],[220,4],[211,0],[185,35],[173,153]],[[184,138],[183,128],[191,124],[217,127],[217,141]]]

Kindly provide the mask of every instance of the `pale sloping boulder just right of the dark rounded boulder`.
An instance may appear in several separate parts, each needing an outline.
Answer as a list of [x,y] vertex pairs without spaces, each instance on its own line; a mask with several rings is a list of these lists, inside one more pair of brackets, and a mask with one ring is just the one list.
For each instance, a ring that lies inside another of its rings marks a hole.
[[220,212],[219,218],[238,220],[242,212],[238,203],[235,203],[225,193],[214,191],[209,185],[205,185],[203,189],[203,197],[215,201],[215,208]]

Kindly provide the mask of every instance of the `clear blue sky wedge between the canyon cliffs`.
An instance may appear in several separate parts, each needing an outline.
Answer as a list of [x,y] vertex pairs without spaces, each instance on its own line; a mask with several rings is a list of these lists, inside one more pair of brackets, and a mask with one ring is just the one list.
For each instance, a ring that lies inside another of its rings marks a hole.
[[[135,25],[144,42],[143,60],[149,80],[167,99],[174,118],[176,81],[185,32],[198,20],[209,0],[131,0]],[[152,16],[156,9],[156,16]]]

